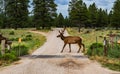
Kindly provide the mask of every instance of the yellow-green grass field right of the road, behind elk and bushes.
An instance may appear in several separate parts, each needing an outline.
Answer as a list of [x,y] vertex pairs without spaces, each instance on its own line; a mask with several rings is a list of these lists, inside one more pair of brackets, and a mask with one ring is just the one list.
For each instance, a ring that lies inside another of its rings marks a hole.
[[[85,44],[86,48],[89,48],[89,46],[96,42],[96,37],[98,43],[103,43],[103,38],[99,36],[106,36],[111,31],[115,34],[120,34],[120,31],[118,30],[98,30],[95,29],[81,29],[81,32],[79,33],[77,28],[68,28],[68,33],[72,36],[79,36],[83,39],[83,43]],[[90,31],[89,33],[86,33],[86,31]]]

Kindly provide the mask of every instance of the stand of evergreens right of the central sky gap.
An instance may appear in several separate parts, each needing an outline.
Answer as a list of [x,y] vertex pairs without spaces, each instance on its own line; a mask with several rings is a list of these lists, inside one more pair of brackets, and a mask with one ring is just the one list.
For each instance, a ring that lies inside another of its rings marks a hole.
[[86,7],[83,0],[71,0],[69,3],[69,19],[73,25],[85,27],[120,27],[120,1],[116,0],[113,9],[107,10],[98,8],[95,3]]

